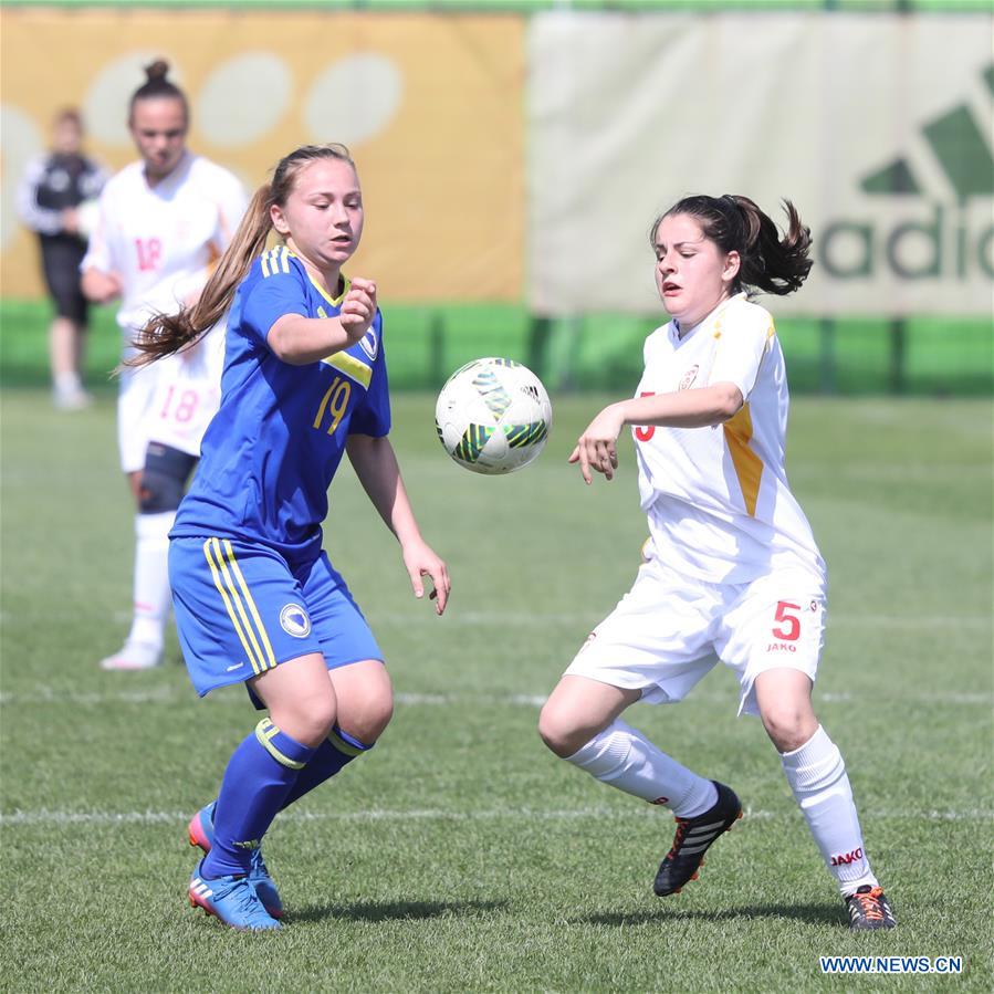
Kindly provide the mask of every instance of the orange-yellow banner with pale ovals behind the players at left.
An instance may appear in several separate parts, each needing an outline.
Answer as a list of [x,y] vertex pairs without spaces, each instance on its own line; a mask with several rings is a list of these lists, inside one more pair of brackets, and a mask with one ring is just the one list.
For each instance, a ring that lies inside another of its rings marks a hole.
[[190,147],[247,188],[300,145],[349,146],[366,201],[349,273],[383,299],[521,300],[523,30],[517,17],[415,11],[6,9],[3,295],[41,295],[14,203],[54,114],[80,107],[87,150],[122,167],[136,158],[128,98],[165,57],[190,101]]

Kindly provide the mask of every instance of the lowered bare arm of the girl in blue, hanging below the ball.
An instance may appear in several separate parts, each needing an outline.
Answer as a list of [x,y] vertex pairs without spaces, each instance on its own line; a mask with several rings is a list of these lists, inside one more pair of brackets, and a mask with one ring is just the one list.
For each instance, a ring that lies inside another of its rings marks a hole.
[[373,506],[400,543],[404,565],[410,576],[415,596],[425,596],[421,577],[430,577],[435,589],[429,594],[429,599],[436,601],[436,614],[442,614],[451,589],[449,571],[421,537],[389,438],[350,435],[345,443],[345,451]]

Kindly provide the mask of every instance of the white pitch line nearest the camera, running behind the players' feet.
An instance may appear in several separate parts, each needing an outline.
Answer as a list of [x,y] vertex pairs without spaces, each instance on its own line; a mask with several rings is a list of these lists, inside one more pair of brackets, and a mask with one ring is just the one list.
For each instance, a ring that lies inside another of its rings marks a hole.
[[[793,809],[782,812],[758,810],[746,807],[745,817],[757,820],[775,820],[794,817]],[[385,809],[373,808],[365,812],[306,812],[290,810],[280,815],[285,822],[566,822],[583,818],[600,818],[630,822],[634,818],[658,817],[659,812],[649,809],[621,810],[608,807],[569,808],[552,810],[545,808],[498,808],[474,812],[450,812],[442,809]],[[59,812],[40,808],[38,810],[13,810],[0,815],[0,825],[28,827],[32,825],[170,825],[185,824],[189,812]],[[994,813],[981,809],[967,810],[880,810],[867,812],[871,820],[912,819],[917,822],[990,822]]]

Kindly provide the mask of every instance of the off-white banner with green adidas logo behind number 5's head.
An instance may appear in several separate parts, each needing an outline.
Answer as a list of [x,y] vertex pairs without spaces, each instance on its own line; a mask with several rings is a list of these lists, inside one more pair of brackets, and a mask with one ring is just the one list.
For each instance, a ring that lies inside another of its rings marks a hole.
[[815,240],[778,314],[990,315],[994,19],[547,12],[530,22],[529,301],[659,310],[648,234],[744,193]]

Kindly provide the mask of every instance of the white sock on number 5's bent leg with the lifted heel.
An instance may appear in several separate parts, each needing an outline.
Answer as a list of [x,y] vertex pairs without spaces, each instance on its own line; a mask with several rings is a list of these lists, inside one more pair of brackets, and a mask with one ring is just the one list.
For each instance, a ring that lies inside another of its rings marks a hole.
[[681,818],[702,815],[718,803],[710,779],[681,766],[620,719],[566,761],[626,794],[665,804]]

